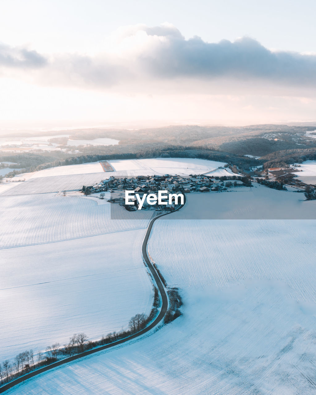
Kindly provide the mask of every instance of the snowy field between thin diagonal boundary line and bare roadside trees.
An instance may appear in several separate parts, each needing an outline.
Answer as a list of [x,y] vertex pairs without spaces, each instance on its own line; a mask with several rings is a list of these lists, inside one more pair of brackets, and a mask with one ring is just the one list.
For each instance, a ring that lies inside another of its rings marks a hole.
[[1,360],[23,350],[127,327],[152,307],[145,229],[0,250]]

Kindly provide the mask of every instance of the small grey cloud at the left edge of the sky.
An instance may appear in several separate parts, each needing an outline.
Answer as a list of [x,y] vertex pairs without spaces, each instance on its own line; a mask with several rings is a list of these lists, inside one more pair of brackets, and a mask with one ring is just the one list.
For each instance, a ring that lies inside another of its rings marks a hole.
[[10,47],[0,43],[0,66],[9,68],[37,68],[44,66],[46,59],[36,51],[25,47]]

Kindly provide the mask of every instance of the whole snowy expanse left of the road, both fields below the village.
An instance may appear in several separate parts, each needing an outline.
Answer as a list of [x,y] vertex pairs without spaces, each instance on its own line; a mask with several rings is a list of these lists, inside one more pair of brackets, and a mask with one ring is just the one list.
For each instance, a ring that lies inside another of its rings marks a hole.
[[35,194],[1,196],[0,213],[0,361],[78,332],[97,339],[150,312],[141,243],[152,212]]

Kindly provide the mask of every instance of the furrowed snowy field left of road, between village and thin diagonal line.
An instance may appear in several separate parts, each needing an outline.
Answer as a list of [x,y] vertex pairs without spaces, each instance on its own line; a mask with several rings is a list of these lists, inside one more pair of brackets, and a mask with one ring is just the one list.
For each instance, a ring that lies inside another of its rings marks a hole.
[[[0,196],[0,248],[78,239],[147,228],[152,212],[132,213],[119,205],[56,194]],[[117,217],[122,219],[112,220]],[[120,236],[119,236],[120,237]]]

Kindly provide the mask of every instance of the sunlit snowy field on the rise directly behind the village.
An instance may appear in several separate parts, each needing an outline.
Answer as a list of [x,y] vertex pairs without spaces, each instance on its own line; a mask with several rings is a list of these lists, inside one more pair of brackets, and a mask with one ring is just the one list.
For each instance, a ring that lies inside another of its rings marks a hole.
[[[204,174],[212,171],[212,175],[228,175],[228,169],[223,167],[223,162],[214,162],[204,159],[190,158],[156,158],[156,159],[127,159],[109,160],[115,171],[104,172],[99,162],[91,162],[78,165],[51,167],[32,173],[25,174],[27,181],[15,188],[10,188],[1,195],[25,195],[58,192],[62,190],[81,189],[83,185],[93,185],[111,176],[133,177],[137,175],[159,174]],[[218,169],[218,170],[216,170]],[[24,177],[20,175],[19,177]]]

